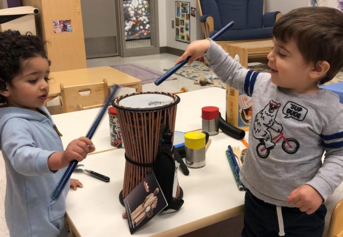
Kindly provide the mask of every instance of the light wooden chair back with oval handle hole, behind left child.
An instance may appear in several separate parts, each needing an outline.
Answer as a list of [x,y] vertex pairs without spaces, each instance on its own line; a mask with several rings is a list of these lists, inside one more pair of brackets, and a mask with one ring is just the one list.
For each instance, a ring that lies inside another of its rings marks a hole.
[[60,87],[63,113],[102,107],[109,95],[106,79],[100,83],[84,85],[63,86],[60,84]]

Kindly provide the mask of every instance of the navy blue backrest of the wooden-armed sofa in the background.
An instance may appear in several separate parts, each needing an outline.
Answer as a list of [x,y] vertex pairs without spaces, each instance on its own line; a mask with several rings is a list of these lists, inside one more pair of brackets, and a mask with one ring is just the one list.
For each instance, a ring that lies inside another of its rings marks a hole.
[[219,31],[230,21],[229,30],[261,28],[264,0],[199,0],[202,15],[213,17],[214,30]]

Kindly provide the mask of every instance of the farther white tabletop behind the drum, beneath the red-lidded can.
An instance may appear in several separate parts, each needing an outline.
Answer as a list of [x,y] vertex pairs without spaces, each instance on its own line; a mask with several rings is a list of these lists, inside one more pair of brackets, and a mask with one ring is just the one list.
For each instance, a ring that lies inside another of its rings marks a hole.
[[[204,106],[217,106],[225,118],[226,115],[226,90],[211,87],[178,94],[180,103],[177,107],[175,130],[188,132],[201,129],[201,108]],[[63,146],[74,139],[85,136],[101,109],[83,110],[59,115],[53,115],[59,131],[63,134]],[[110,144],[109,117],[106,113],[92,137],[95,152],[114,149]]]

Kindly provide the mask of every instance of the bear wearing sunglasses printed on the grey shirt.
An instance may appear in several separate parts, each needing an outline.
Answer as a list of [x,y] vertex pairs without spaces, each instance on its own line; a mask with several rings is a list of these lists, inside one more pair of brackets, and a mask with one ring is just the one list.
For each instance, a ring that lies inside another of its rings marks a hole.
[[264,142],[267,149],[275,146],[275,143],[271,140],[270,129],[277,132],[281,132],[283,129],[282,125],[275,120],[279,108],[280,104],[270,100],[266,107],[256,115],[254,120],[253,136]]

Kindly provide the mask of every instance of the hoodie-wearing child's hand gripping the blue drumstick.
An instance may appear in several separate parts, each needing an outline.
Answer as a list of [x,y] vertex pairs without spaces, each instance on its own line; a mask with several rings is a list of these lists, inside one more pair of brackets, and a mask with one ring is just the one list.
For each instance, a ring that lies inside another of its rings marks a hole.
[[62,154],[62,163],[69,165],[70,161],[82,161],[88,153],[94,152],[95,147],[91,140],[86,137],[80,137],[71,141]]

